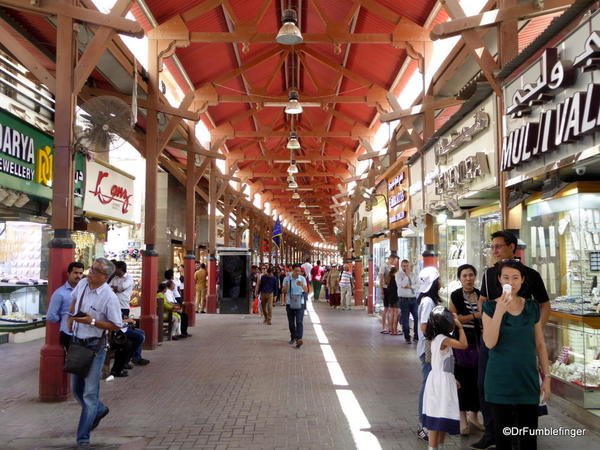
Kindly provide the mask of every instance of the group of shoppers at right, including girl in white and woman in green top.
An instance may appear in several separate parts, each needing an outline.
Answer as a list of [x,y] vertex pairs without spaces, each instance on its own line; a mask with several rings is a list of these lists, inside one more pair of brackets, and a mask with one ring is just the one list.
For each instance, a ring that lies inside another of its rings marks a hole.
[[[475,288],[477,269],[460,266],[462,287],[451,293],[448,308],[441,306],[437,269],[419,273],[418,433],[430,449],[442,448],[446,433],[468,434],[471,427],[484,430],[473,449],[537,446],[534,432],[527,430],[537,428],[545,410],[540,404],[550,395],[542,331],[548,294],[539,273],[516,258],[514,234],[492,234],[491,249],[496,264],[484,271],[481,290]],[[480,410],[483,425],[477,420]],[[524,431],[510,436],[503,431],[507,427]]]

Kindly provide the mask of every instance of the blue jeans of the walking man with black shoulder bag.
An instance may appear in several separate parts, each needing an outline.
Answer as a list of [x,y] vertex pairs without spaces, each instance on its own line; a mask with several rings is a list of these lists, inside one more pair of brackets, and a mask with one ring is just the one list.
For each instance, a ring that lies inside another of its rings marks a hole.
[[[88,344],[87,347],[96,349],[98,341]],[[85,378],[71,375],[73,395],[81,405],[81,415],[77,426],[77,443],[90,442],[90,431],[97,416],[102,415],[108,408],[100,401],[100,377],[106,356],[104,345],[98,350],[90,371]]]

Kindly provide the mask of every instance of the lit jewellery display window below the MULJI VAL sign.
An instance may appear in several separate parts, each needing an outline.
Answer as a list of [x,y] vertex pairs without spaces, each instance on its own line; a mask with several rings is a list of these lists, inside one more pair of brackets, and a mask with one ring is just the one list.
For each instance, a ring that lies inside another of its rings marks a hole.
[[529,204],[523,231],[528,265],[551,299],[545,333],[554,383],[593,389],[577,403],[600,408],[600,195]]

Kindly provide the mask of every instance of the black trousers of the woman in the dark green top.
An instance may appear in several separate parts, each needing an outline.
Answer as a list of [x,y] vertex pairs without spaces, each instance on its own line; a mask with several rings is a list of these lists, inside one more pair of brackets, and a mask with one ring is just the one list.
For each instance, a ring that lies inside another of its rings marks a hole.
[[[497,450],[512,450],[513,443],[516,443],[516,448],[520,450],[535,450],[537,448],[537,436],[530,435],[527,432],[538,427],[537,403],[533,405],[488,403],[488,405],[494,415]],[[507,433],[507,430],[513,428],[513,431],[518,430],[520,434]]]

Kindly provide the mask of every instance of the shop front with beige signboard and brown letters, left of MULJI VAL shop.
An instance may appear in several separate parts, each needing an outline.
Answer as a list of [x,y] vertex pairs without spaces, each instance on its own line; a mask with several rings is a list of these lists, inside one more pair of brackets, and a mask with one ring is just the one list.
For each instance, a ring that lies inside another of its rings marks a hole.
[[[501,227],[495,97],[465,103],[423,158],[426,208],[435,218],[443,296],[460,287],[456,270],[491,264],[489,237]],[[479,280],[480,282],[480,280]]]

